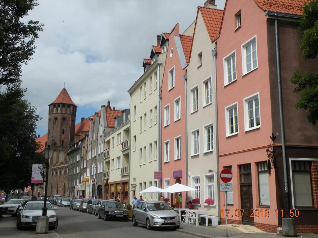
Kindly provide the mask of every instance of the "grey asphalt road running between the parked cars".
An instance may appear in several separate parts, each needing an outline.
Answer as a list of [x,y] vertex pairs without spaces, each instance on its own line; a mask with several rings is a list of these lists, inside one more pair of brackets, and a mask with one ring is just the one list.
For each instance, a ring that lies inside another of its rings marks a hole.
[[58,208],[55,210],[59,227],[56,230],[49,230],[49,234],[35,234],[35,229],[19,231],[16,228],[16,217],[3,215],[0,218],[0,238],[95,238],[95,237],[112,237],[112,238],[194,238],[196,236],[176,232],[172,228],[163,228],[147,230],[146,226],[139,225],[134,227],[131,220],[129,221],[104,221],[97,219],[97,216],[73,211],[69,208]]

